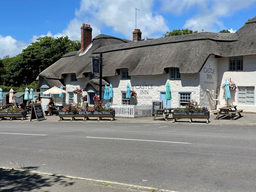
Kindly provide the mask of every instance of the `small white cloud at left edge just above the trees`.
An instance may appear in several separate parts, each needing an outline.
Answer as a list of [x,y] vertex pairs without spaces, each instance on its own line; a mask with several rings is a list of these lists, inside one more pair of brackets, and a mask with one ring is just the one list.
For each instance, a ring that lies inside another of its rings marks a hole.
[[13,57],[22,52],[22,49],[27,47],[27,44],[23,41],[17,41],[15,38],[0,35],[0,58],[9,55]]

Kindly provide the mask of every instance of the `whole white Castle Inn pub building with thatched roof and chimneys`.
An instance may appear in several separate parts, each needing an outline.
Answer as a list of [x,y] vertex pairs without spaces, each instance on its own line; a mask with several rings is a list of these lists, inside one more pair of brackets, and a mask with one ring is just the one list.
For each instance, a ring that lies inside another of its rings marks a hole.
[[[90,25],[82,25],[81,49],[71,52],[38,76],[42,102],[51,95],[42,92],[63,86],[68,93],[65,102],[78,102],[76,87],[87,94],[89,104],[99,94],[99,79],[92,74],[92,56],[103,56],[103,86],[113,86],[113,104],[150,104],[163,100],[165,84],[170,83],[172,100],[167,107],[184,107],[195,99],[210,110],[227,105],[222,85],[226,79],[236,83],[230,91],[229,104],[244,111],[256,111],[256,17],[236,33],[201,32],[157,39],[142,39],[139,29],[133,41],[99,34],[92,39]],[[137,98],[125,98],[126,84],[136,91]],[[214,93],[214,94],[213,94]],[[215,95],[217,94],[217,95]],[[103,94],[102,94],[103,95]]]

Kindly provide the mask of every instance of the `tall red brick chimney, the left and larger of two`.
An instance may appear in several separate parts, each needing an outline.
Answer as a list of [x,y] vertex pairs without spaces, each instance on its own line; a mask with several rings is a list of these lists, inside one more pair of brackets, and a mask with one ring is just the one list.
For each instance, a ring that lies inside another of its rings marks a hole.
[[87,25],[83,23],[81,27],[81,53],[85,51],[85,49],[91,44],[91,25]]

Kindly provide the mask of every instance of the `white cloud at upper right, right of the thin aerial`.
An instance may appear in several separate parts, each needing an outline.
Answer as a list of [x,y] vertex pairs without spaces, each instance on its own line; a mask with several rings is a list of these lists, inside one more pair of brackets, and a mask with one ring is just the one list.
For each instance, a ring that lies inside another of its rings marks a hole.
[[184,28],[201,31],[225,29],[221,18],[229,17],[237,11],[248,8],[256,0],[164,0],[162,10],[173,14],[183,14],[196,10],[196,15],[188,19]]

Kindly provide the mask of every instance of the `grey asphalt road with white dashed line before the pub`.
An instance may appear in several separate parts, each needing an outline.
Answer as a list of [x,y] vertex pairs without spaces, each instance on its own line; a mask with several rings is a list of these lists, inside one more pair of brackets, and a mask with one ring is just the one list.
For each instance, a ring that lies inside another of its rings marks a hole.
[[0,132],[0,167],[181,192],[256,191],[254,126],[5,121]]

